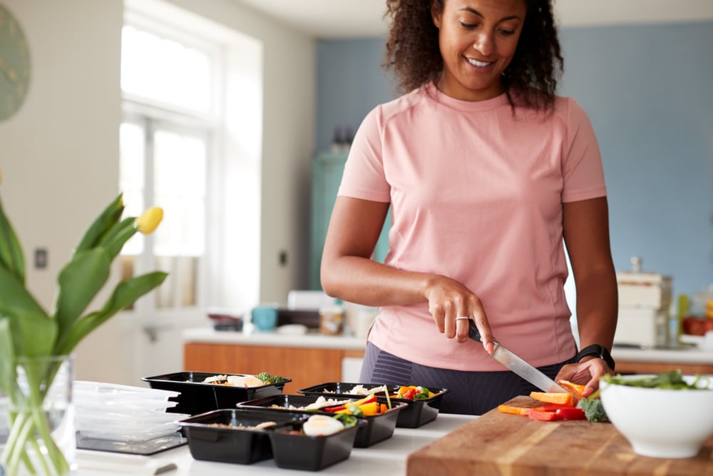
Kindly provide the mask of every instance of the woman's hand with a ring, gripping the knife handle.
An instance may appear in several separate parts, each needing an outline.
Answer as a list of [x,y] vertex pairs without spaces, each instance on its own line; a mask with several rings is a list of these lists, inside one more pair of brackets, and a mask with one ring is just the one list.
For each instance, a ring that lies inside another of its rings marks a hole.
[[468,320],[456,318],[467,317],[476,323],[483,348],[488,354],[493,353],[493,333],[488,316],[475,293],[454,279],[434,275],[434,278],[428,280],[424,295],[429,301],[429,312],[440,333],[445,333],[448,339],[456,338],[458,343],[466,342]]

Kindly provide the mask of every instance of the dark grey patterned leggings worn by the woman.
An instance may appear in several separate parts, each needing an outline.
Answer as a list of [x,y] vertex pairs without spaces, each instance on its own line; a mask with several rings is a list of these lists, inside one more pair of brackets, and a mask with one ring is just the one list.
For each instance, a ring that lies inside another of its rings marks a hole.
[[[563,365],[573,361],[574,358],[539,370],[555,378]],[[451,391],[443,396],[439,411],[463,415],[482,415],[513,397],[540,391],[509,370],[465,372],[429,367],[391,355],[372,343],[366,344],[359,382],[447,388]]]

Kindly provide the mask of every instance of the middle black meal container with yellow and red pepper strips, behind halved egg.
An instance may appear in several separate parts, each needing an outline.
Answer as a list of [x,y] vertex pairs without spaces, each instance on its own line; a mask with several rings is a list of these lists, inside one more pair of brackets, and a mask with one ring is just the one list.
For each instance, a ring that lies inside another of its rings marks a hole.
[[[237,406],[238,408],[264,408],[265,410],[278,412],[289,410],[307,412],[308,414],[319,413],[322,415],[334,415],[334,413],[327,412],[322,409],[299,409],[300,407],[305,407],[310,403],[314,403],[317,398],[319,398],[317,395],[274,395],[272,397],[264,397],[257,400],[240,402]],[[338,400],[347,399],[338,398]],[[352,398],[349,398],[348,400],[355,401]],[[297,409],[292,409],[290,407],[297,407]],[[408,407],[406,403],[394,401],[391,402],[391,410],[386,413],[359,417],[366,421],[366,425],[359,427],[359,430],[356,431],[356,437],[354,437],[354,447],[366,448],[371,445],[375,445],[378,442],[388,440],[392,435],[394,435],[394,428],[396,427],[396,419],[399,416],[399,412],[404,410],[406,407]]]

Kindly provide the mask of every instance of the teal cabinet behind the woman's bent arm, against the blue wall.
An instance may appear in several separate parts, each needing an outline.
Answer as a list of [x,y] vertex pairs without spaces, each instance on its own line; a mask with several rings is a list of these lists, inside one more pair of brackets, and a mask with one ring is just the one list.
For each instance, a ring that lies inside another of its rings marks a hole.
[[[332,216],[334,202],[337,201],[337,191],[342,183],[344,163],[347,162],[347,152],[320,153],[312,164],[312,236],[309,259],[309,285],[313,290],[321,290],[319,282],[319,264],[322,262],[324,238],[327,237],[329,218]],[[389,251],[389,228],[391,226],[391,210],[386,216],[384,229],[381,230],[379,242],[376,243],[374,259],[384,263]]]

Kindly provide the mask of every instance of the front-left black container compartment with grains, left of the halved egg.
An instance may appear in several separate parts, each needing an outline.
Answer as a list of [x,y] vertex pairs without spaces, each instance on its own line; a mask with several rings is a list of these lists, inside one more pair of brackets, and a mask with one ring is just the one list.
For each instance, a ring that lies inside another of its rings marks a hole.
[[[250,465],[272,457],[270,432],[280,428],[300,428],[304,420],[307,420],[307,416],[301,413],[225,409],[186,418],[180,421],[180,425],[188,438],[190,455],[196,460]],[[255,426],[262,422],[275,422],[277,426],[242,429],[215,425]]]

